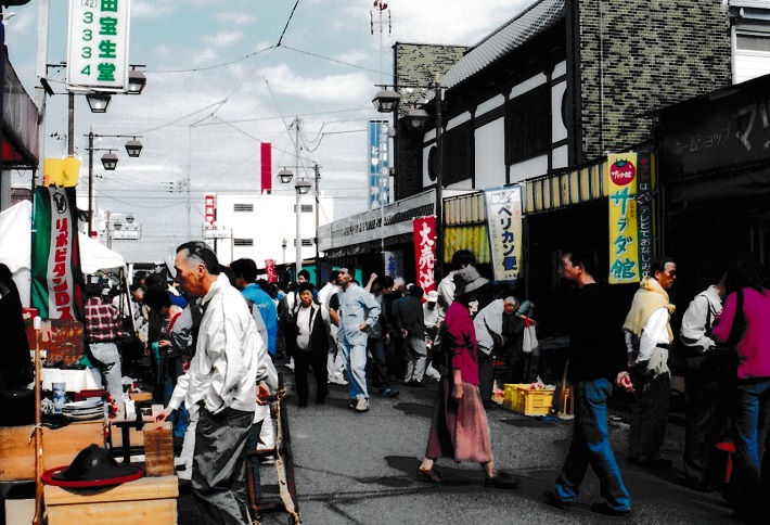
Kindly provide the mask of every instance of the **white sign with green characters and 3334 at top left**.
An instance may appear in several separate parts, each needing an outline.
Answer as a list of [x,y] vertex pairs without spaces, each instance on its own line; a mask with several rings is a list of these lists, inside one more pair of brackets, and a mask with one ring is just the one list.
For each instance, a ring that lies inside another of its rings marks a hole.
[[70,0],[67,88],[126,91],[131,0]]

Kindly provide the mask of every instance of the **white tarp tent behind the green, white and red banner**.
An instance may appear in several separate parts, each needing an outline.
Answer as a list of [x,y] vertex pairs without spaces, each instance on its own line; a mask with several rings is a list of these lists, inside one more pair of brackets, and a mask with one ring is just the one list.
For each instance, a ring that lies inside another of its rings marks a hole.
[[[29,306],[33,204],[22,201],[0,213],[0,262],[9,267],[22,296],[22,304]],[[125,267],[120,254],[102,246],[84,233],[78,234],[80,243],[80,268],[84,273]]]

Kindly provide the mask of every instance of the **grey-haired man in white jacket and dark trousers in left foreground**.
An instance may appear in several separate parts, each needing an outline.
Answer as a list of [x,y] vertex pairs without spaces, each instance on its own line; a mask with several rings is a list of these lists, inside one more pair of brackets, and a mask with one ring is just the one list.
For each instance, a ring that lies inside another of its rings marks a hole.
[[[207,523],[248,524],[245,449],[257,382],[268,376],[267,346],[246,302],[220,273],[217,256],[205,243],[179,246],[175,268],[177,281],[203,297],[204,308],[184,397],[198,414],[193,494]],[[259,397],[268,395],[260,384]]]

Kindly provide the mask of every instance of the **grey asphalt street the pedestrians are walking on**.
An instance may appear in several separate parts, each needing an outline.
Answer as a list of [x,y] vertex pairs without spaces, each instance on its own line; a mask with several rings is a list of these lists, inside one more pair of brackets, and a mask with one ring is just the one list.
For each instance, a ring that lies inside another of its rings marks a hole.
[[[286,374],[286,382],[293,377]],[[500,469],[521,476],[517,490],[483,487],[477,464],[439,460],[448,484],[433,486],[415,481],[425,451],[436,383],[414,388],[395,384],[397,398],[372,397],[369,412],[347,408],[346,387],[332,385],[323,406],[298,408],[287,399],[296,491],[301,523],[329,524],[580,524],[580,523],[736,523],[717,492],[698,494],[680,485],[683,428],[670,424],[664,453],[675,466],[651,471],[626,461],[627,413],[615,412],[612,444],[632,498],[630,520],[589,511],[599,497],[592,472],[569,511],[542,502],[553,487],[567,451],[572,422],[547,422],[504,409],[488,412],[491,445]],[[311,399],[312,399],[311,385]],[[376,393],[376,390],[374,390]],[[277,494],[274,472],[262,466],[262,491]],[[182,525],[197,523],[189,496],[180,498]],[[288,523],[285,513],[267,514],[264,524]]]

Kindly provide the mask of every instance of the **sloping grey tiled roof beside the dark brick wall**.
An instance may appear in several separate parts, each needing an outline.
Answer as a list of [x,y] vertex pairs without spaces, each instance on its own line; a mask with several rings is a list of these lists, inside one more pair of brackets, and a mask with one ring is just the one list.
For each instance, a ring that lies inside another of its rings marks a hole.
[[563,20],[565,0],[541,0],[471,48],[441,79],[451,88]]

